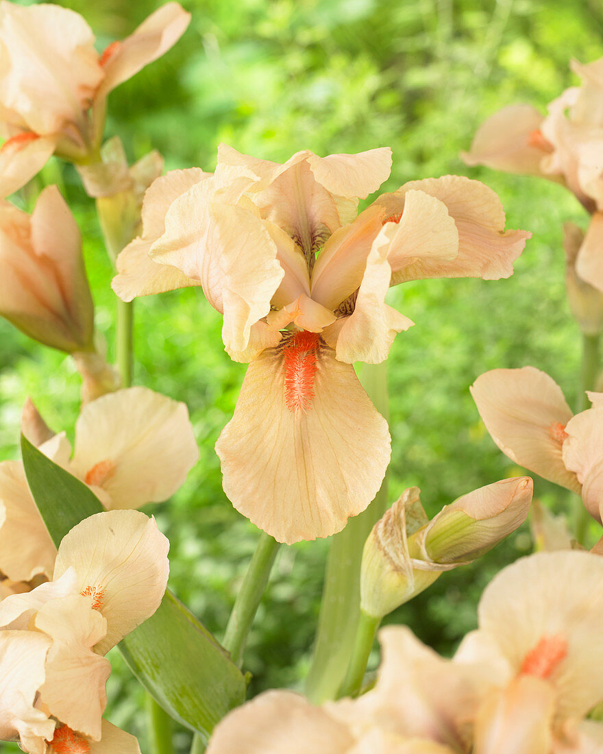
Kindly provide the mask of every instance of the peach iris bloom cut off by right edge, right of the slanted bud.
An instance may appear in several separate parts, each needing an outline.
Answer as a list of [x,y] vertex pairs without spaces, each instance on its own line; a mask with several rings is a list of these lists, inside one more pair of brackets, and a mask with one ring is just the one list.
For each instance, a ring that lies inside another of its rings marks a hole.
[[470,389],[500,450],[582,495],[591,516],[601,521],[603,394],[587,392],[592,408],[574,416],[559,385],[533,366],[492,369]]

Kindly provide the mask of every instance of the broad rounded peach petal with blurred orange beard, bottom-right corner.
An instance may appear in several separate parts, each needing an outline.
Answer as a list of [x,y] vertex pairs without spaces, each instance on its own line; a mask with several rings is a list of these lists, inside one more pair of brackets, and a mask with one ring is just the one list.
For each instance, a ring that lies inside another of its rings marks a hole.
[[559,719],[581,719],[603,700],[601,556],[558,550],[517,560],[485,588],[478,620],[515,673],[552,684]]

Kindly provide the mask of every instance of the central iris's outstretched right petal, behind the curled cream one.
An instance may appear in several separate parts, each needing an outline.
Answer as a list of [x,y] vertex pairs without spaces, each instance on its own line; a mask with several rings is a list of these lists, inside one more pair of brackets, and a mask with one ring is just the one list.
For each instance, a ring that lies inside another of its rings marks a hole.
[[394,276],[394,284],[424,277],[481,277],[498,280],[513,274],[513,262],[522,253],[528,231],[505,231],[503,205],[488,186],[462,176],[411,181],[396,194],[412,189],[442,201],[458,230],[455,259],[418,259]]

